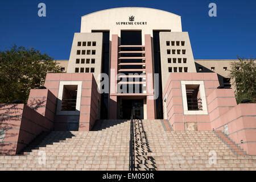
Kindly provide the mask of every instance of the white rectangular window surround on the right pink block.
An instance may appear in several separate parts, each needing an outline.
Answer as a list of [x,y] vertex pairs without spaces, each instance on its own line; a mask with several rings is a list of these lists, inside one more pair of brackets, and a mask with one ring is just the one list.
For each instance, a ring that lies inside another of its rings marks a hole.
[[[186,85],[200,85],[199,92],[200,92],[200,98],[202,100],[203,110],[188,110]],[[208,114],[207,101],[206,101],[205,89],[204,89],[204,81],[181,81],[181,92],[182,92],[182,100],[183,100],[183,110],[185,115]]]

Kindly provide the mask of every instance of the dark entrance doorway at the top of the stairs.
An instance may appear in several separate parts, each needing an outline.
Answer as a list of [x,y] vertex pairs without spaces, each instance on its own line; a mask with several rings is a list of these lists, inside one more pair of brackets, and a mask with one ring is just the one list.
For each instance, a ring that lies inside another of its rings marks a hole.
[[143,119],[143,100],[121,99],[120,107],[121,119],[130,119],[132,110],[134,113],[134,119]]

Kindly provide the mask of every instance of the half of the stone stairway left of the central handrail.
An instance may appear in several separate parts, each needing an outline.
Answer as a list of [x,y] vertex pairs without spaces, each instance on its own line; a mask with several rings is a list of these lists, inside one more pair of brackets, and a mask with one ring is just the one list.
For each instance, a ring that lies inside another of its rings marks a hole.
[[0,156],[0,170],[129,170],[130,121],[98,125],[98,131],[52,131],[24,155]]

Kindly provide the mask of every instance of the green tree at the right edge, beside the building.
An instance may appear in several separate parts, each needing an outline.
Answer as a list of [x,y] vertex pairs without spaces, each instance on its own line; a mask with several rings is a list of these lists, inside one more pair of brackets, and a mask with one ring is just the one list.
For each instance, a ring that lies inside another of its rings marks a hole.
[[236,99],[256,102],[256,63],[254,59],[241,59],[231,64],[230,78],[236,85]]

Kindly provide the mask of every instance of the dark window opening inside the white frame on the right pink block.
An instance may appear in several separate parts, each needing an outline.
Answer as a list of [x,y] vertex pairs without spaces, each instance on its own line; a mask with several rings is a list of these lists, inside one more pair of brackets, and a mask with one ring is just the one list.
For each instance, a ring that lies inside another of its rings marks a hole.
[[185,85],[188,110],[203,110],[199,86],[200,85]]

